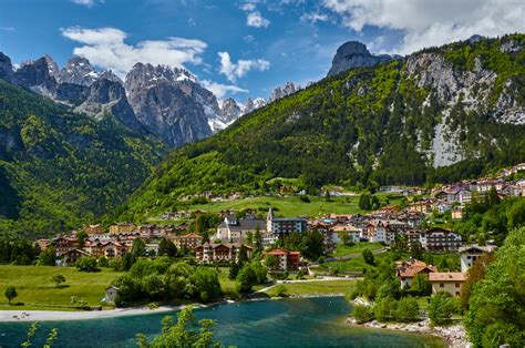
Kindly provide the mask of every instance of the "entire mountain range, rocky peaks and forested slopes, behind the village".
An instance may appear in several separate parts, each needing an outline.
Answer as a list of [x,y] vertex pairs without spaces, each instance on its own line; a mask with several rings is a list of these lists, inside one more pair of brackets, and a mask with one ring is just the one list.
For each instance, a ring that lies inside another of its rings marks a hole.
[[524,47],[477,37],[401,58],[350,42],[321,81],[244,105],[184,69],[136,63],[122,81],[78,57],[14,69],[0,54],[0,232],[137,219],[205,192],[374,190],[524,162]]

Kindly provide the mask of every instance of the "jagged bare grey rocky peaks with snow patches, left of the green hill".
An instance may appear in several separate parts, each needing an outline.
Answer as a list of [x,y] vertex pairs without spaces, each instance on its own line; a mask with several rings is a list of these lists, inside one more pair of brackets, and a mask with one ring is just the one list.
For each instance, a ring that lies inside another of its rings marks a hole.
[[[257,98],[239,105],[229,98],[219,105],[185,69],[136,63],[122,81],[111,70],[95,71],[81,57],[71,58],[62,69],[49,55],[14,69],[10,58],[0,53],[0,79],[94,117],[112,113],[124,125],[148,132],[172,147],[208,137],[267,103]],[[297,90],[288,82],[274,90],[268,102]]]

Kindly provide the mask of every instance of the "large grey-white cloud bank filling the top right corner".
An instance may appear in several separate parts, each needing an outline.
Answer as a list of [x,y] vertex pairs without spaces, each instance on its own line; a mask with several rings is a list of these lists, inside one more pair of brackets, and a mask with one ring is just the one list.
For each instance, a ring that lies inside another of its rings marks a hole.
[[356,31],[364,25],[398,30],[402,54],[424,47],[525,31],[523,0],[323,0],[323,6],[342,17]]

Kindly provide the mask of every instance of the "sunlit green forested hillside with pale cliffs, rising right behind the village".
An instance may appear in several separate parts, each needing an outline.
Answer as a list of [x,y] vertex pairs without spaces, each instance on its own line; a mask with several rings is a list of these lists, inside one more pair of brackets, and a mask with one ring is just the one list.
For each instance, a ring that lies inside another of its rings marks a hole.
[[187,194],[362,188],[478,176],[525,161],[525,35],[431,48],[350,70],[174,151],[116,215]]

